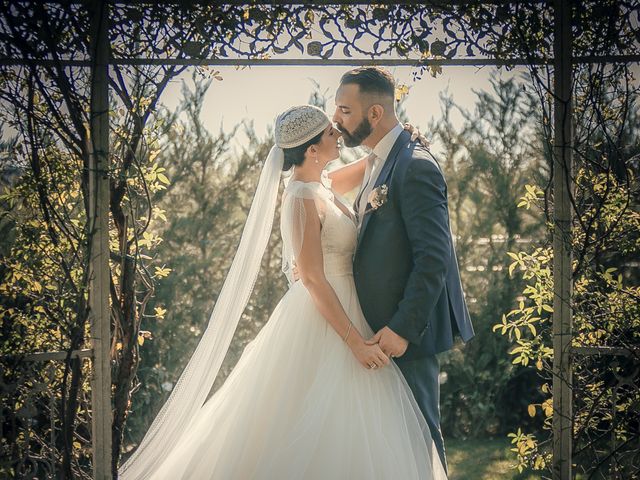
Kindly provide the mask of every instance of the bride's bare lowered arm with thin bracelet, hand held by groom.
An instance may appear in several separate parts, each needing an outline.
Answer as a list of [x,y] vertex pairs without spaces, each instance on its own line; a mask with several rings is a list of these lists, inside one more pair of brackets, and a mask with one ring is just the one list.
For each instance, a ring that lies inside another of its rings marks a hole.
[[[343,339],[349,332],[351,320],[344,311],[338,296],[324,274],[322,246],[320,243],[321,223],[317,215],[315,203],[312,199],[305,199],[305,221],[302,234],[302,246],[297,255],[296,263],[300,280],[311,294],[313,303],[320,314],[329,322],[333,329]],[[351,327],[347,344],[360,363],[367,367],[375,363],[378,366],[387,365],[389,359],[376,344],[369,349],[362,335],[355,327]]]

